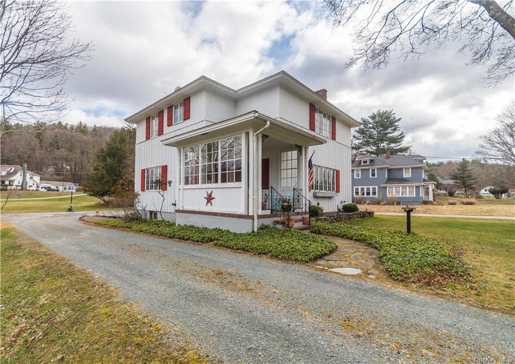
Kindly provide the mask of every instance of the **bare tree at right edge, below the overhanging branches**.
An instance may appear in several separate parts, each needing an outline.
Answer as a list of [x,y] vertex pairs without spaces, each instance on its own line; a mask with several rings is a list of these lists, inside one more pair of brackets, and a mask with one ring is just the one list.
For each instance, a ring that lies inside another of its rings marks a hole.
[[480,136],[476,154],[496,163],[515,167],[515,100],[495,117],[497,127],[490,133]]

